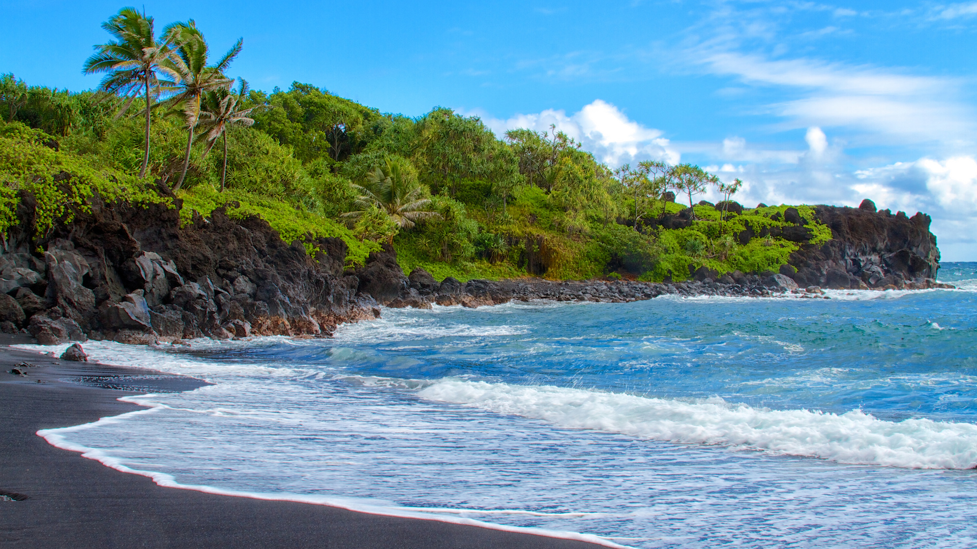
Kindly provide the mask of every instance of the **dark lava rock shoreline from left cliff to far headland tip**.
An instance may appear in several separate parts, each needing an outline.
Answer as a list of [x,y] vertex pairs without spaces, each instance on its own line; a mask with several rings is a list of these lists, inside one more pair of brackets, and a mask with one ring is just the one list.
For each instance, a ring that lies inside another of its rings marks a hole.
[[[877,212],[869,201],[858,209],[818,206],[819,220],[832,232],[822,245],[805,242],[806,222],[798,218],[800,249],[780,273],[719,275],[700,268],[687,282],[527,277],[462,283],[451,277],[439,281],[420,269],[405,275],[391,246],[371,254],[361,268],[344,269],[347,247],[341,239],[287,243],[260,218],[231,219],[224,208],[182,226],[182,204],[170,196],[176,208],[95,200],[91,211],[75,212],[70,223],[43,237],[23,229],[33,227],[31,200],[23,197],[21,225],[7,235],[0,253],[0,330],[26,331],[48,345],[89,338],[151,344],[196,337],[327,337],[340,323],[379,317],[382,306],[617,303],[661,295],[786,292],[823,297],[821,288],[948,287],[935,281],[939,249],[929,216]],[[316,250],[312,255],[307,245]]]

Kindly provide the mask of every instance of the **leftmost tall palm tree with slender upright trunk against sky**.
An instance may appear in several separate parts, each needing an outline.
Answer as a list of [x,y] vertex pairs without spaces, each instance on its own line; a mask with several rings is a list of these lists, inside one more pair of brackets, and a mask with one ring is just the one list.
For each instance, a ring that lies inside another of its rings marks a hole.
[[102,28],[116,40],[95,46],[97,53],[85,61],[85,74],[107,72],[99,87],[108,94],[128,96],[116,116],[121,116],[141,93],[145,93],[146,142],[139,177],[146,177],[149,165],[149,107],[152,106],[153,88],[158,82],[156,71],[176,76],[164,65],[172,54],[171,45],[165,39],[156,42],[152,18],[140,14],[135,8],[122,8],[117,15],[102,23]]

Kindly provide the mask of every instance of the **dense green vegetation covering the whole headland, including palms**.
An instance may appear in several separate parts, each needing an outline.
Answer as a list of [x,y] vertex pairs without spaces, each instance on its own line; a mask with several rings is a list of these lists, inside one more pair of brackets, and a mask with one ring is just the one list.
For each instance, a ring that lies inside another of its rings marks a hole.
[[[157,35],[151,18],[124,9],[104,27],[113,40],[84,63],[106,73],[98,91],[0,77],[0,232],[21,191],[38,198],[43,233],[95,193],[161,201],[148,185],[158,180],[183,198],[184,220],[230,205],[286,240],[341,237],[350,264],[392,243],[405,272],[439,278],[681,280],[701,266],[776,271],[797,249],[772,235],[741,244],[747,228],[792,225],[786,206],[696,205],[708,186],[728,199],[740,185],[697,166],[611,169],[555,128],[500,140],[478,117],[443,107],[407,117],[298,82],[252,91],[227,75],[240,41],[211,62],[193,21]],[[661,227],[683,210],[687,227]],[[797,210],[815,242],[830,237],[810,208]]]

